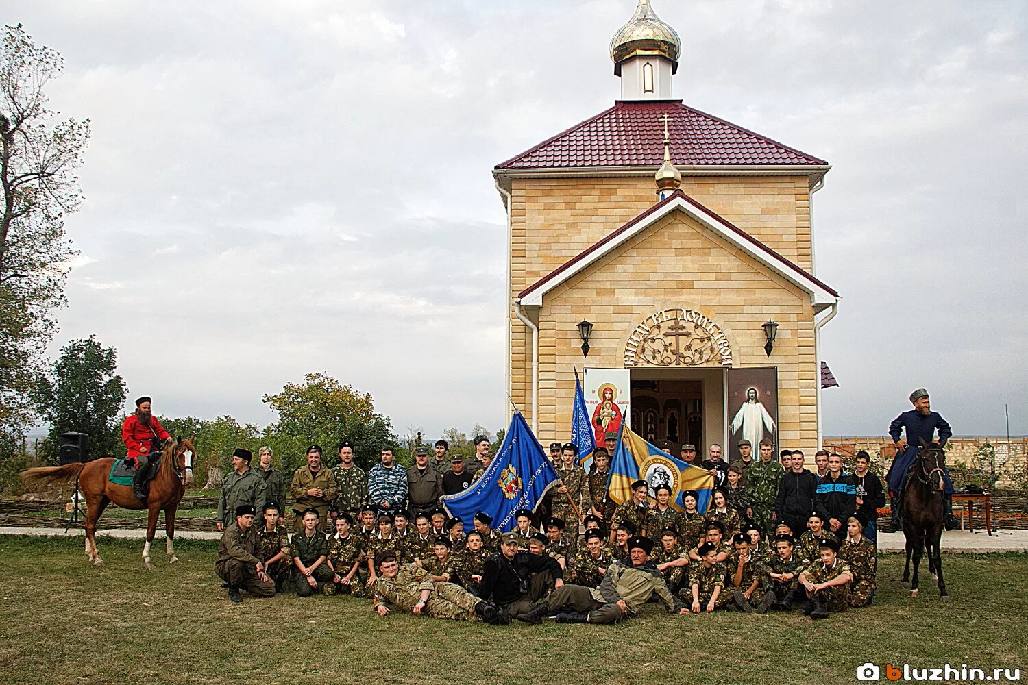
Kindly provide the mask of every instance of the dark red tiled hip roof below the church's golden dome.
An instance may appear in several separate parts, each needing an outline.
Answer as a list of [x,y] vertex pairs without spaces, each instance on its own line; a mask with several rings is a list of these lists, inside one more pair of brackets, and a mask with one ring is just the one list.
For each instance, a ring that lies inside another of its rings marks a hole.
[[790,164],[828,162],[734,123],[700,112],[682,101],[622,102],[498,164],[498,169],[580,166],[659,166],[664,161],[664,124],[671,119],[671,161],[687,165]]

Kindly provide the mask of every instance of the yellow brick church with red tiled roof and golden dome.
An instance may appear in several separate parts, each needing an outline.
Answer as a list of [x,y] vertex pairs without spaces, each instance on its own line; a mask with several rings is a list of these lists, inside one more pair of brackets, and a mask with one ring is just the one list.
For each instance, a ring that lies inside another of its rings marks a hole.
[[495,166],[508,218],[508,389],[568,440],[576,372],[601,444],[820,445],[811,197],[830,165],[672,94],[682,41],[650,0],[611,41],[621,98]]

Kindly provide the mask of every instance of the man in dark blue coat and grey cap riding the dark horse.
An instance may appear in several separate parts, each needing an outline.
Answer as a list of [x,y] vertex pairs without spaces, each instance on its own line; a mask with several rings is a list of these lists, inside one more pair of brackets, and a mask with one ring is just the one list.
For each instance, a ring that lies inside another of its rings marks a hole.
[[[923,446],[935,440],[935,430],[939,431],[939,444],[942,446],[945,446],[946,441],[953,435],[946,419],[931,411],[927,390],[924,388],[914,390],[910,394],[910,401],[914,405],[914,409],[904,412],[889,424],[889,435],[896,444],[896,456],[886,475],[889,494],[892,496],[892,530],[903,529],[903,524],[900,522],[900,504],[903,502],[903,492],[907,487],[909,471],[914,464],[917,453],[921,451]],[[901,439],[904,430],[907,431],[907,435]],[[944,506],[946,507],[946,530],[953,530],[957,525],[957,520],[953,516],[953,482],[950,480],[949,469],[944,469],[944,480],[946,482],[946,488],[943,491]]]

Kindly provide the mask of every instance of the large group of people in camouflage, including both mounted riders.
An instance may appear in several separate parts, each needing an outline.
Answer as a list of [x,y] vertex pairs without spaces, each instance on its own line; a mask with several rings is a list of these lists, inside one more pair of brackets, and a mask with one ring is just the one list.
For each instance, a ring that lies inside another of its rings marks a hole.
[[[145,427],[158,439],[162,429],[148,423],[145,399],[145,416],[126,432],[144,436]],[[942,443],[950,436],[923,389],[911,402],[914,410],[892,426],[904,457],[914,440],[926,444],[935,430]],[[259,450],[253,467],[252,454],[237,449],[222,486],[215,570],[232,602],[242,602],[241,592],[348,594],[370,600],[381,616],[404,611],[495,624],[548,616],[609,623],[652,600],[677,614],[802,606],[813,619],[873,602],[885,488],[867,452],[846,472],[837,454],[818,451],[808,470],[802,451],[775,455],[770,440],[756,455],[748,440],[739,441],[731,463],[720,445],[710,445],[705,459],[694,445],[682,445],[682,460],[708,470],[714,489],[708,502],[684,493],[680,510],[669,485],[641,480],[630,498],[613,501],[607,488],[618,435],[604,439],[590,455],[589,472],[574,444],[551,444],[559,483],[535,509],[517,511],[516,526],[503,533],[484,511],[465,522],[440,506],[443,495],[466,490],[488,468],[484,435],[474,439],[471,458],[450,456],[440,440],[431,453],[415,450],[407,468],[383,447],[367,472],[350,442],[339,443],[332,468],[313,445],[306,465],[288,479],[271,465],[270,448]],[[131,447],[137,457],[147,452],[145,441]],[[906,478],[895,468],[886,475],[893,504]],[[282,508],[287,498],[294,502],[291,531]]]

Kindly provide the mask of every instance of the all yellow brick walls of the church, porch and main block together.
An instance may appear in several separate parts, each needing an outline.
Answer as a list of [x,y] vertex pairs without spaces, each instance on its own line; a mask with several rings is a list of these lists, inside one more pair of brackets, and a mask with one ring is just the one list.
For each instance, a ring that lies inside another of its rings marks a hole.
[[[514,315],[513,299],[653,206],[657,201],[654,190],[652,177],[512,180],[510,390],[529,421],[531,332]],[[811,270],[808,177],[686,177],[682,190],[785,259]],[[735,368],[776,366],[778,442],[813,453],[819,370],[809,295],[683,212],[644,229],[547,293],[542,307],[525,311],[540,329],[541,441],[567,440],[573,367],[587,363],[589,367],[623,368],[628,336],[649,314],[665,308],[694,309],[713,319],[732,343]],[[587,359],[576,330],[582,318],[594,325]],[[763,349],[761,328],[768,318],[779,324],[770,358]],[[708,442],[722,442],[724,403],[704,404]]]

